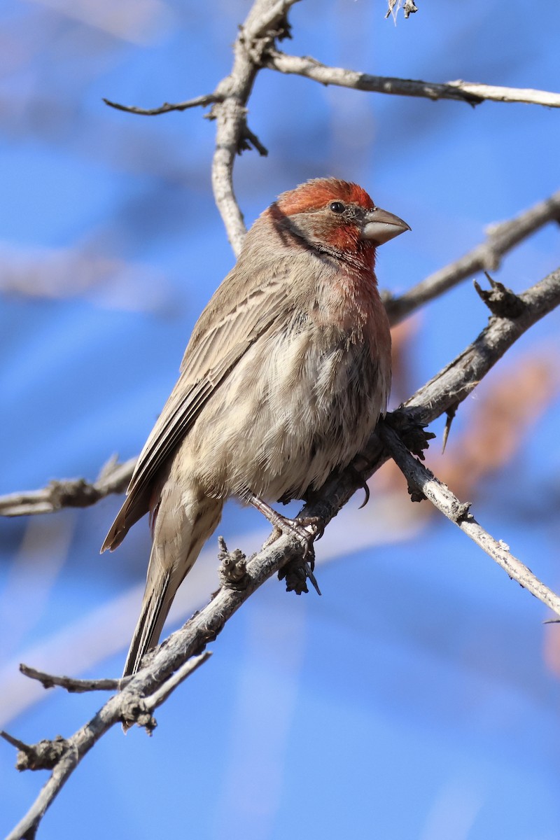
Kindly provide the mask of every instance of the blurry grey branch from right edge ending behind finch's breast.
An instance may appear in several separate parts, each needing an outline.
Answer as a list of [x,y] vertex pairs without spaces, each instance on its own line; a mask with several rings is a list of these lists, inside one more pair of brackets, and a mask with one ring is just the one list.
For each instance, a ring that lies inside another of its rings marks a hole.
[[399,323],[415,309],[472,277],[477,271],[495,270],[508,251],[549,222],[560,222],[560,190],[516,218],[490,226],[483,243],[412,286],[404,295],[385,297],[385,308],[391,325]]

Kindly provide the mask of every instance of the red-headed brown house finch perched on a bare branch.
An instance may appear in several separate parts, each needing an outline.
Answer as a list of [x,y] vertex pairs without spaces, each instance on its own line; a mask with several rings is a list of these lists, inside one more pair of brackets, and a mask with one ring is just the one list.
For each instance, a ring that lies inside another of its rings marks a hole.
[[150,513],[146,589],[124,675],[158,642],[228,497],[257,506],[301,498],[365,444],[391,378],[375,247],[405,230],[360,186],[335,178],[284,192],[249,230],[196,323],[102,546],[117,548]]

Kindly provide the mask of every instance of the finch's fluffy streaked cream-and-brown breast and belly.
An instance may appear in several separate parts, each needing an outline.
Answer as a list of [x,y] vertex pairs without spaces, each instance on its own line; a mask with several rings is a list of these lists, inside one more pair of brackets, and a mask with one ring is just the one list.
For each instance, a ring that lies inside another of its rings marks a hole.
[[183,444],[209,493],[299,498],[348,465],[390,383],[360,334],[299,310],[243,355]]

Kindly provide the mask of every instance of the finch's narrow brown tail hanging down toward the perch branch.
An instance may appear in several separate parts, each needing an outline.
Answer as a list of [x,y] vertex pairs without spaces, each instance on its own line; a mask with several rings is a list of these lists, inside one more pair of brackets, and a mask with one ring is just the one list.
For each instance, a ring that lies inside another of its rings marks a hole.
[[142,659],[160,639],[175,594],[222,516],[223,501],[185,487],[163,487],[154,512],[154,541],[140,617],[130,643],[123,676],[136,674]]

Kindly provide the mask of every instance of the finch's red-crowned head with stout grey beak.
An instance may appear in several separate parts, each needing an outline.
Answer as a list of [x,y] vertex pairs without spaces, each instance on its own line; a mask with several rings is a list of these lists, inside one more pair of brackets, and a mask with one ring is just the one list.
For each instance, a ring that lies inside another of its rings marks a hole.
[[315,178],[283,192],[267,213],[308,247],[368,263],[377,245],[411,229],[376,207],[361,186],[338,178]]

